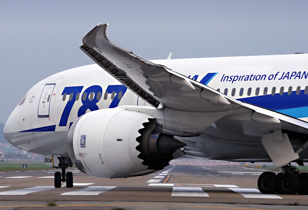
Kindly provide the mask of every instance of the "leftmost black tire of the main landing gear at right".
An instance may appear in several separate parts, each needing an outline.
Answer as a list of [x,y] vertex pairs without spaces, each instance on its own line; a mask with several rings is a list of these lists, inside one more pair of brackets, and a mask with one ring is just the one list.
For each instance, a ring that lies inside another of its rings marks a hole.
[[258,189],[263,194],[274,194],[277,191],[277,176],[275,173],[266,171],[258,178]]

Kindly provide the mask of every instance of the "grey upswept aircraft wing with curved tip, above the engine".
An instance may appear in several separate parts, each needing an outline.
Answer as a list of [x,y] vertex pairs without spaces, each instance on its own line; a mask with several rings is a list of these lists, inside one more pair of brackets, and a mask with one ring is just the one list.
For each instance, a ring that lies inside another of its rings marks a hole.
[[274,130],[308,134],[307,122],[223,95],[114,44],[106,36],[107,25],[99,24],[92,29],[83,38],[81,50],[152,106],[157,108],[161,104],[178,111],[207,113],[232,110],[221,117],[247,122],[261,137]]

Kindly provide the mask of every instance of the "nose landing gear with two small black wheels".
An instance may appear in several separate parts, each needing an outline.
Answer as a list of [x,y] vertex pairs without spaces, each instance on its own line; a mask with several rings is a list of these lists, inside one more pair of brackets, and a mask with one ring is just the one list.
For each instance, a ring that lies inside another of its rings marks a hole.
[[65,173],[65,170],[67,167],[72,167],[73,163],[71,159],[69,158],[63,158],[63,157],[58,157],[59,159],[59,166],[53,166],[53,168],[61,168],[62,173],[60,172],[55,172],[55,188],[60,188],[61,187],[61,181],[65,182],[66,181],[66,187],[73,187],[73,173],[72,172],[67,172]]

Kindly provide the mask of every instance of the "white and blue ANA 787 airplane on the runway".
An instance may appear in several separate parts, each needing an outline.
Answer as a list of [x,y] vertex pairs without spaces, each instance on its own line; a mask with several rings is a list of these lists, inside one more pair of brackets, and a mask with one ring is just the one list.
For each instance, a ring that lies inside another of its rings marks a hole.
[[[154,173],[183,155],[273,162],[262,193],[308,194],[308,55],[146,60],[111,42],[107,23],[80,49],[95,64],[34,85],[4,127],[12,145],[96,177]],[[50,158],[47,158],[50,157]],[[54,159],[55,158],[55,159]]]

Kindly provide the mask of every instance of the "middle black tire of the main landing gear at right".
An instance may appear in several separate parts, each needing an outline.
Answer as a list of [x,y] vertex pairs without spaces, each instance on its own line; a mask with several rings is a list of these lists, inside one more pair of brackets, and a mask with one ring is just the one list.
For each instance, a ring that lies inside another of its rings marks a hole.
[[294,195],[299,189],[299,178],[295,173],[283,173],[278,179],[278,189],[279,194]]

